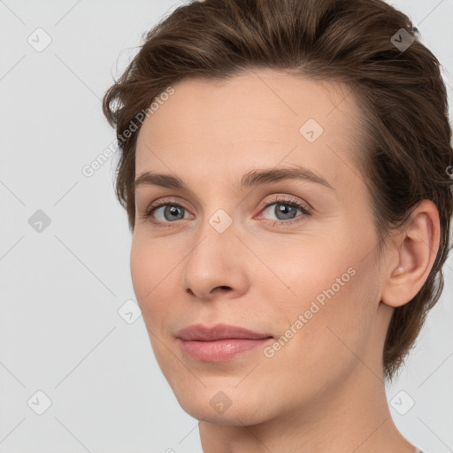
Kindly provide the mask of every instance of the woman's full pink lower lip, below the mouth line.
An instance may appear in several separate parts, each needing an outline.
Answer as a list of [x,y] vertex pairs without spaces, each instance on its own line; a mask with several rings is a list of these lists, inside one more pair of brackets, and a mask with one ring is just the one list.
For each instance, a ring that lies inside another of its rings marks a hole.
[[202,362],[224,362],[242,353],[256,349],[273,338],[226,338],[215,342],[184,341],[179,340],[180,347],[188,357]]

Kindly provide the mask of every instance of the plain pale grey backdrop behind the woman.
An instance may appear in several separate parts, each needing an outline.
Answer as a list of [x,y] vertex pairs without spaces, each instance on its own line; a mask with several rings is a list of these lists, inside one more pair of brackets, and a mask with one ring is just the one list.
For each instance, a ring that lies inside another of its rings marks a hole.
[[[101,111],[112,77],[177,4],[0,0],[1,453],[201,452],[134,311],[116,158],[82,173],[114,140]],[[451,103],[453,0],[393,4],[440,59]],[[387,389],[396,425],[428,453],[453,451],[452,275],[450,257]]]

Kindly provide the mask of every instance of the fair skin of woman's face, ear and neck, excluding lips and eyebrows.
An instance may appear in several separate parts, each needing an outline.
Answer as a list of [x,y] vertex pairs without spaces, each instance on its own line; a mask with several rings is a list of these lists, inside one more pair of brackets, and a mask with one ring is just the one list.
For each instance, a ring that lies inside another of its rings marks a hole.
[[[158,365],[184,411],[201,420],[203,452],[414,453],[388,409],[381,356],[392,312],[434,263],[434,204],[418,205],[378,263],[368,192],[350,152],[359,112],[347,88],[262,69],[173,88],[143,122],[135,174],[171,174],[188,191],[136,188],[131,274]],[[299,132],[307,119],[324,129],[314,142]],[[251,170],[295,165],[332,188],[309,180],[237,187]],[[295,207],[285,217],[276,208],[291,204],[276,196],[311,214]],[[142,218],[167,197],[166,213]],[[214,214],[231,225],[220,233]],[[345,273],[348,281],[273,357],[259,347],[200,361],[175,337],[192,324],[225,323],[271,333],[269,351]],[[218,392],[231,402],[221,413],[210,403]]]

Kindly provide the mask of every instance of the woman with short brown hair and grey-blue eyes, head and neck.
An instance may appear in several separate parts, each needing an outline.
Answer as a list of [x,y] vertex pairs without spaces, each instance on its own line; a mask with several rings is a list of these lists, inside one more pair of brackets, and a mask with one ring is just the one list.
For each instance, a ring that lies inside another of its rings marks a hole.
[[380,0],[206,0],[104,96],[134,292],[205,453],[419,451],[392,380],[441,296],[439,62]]

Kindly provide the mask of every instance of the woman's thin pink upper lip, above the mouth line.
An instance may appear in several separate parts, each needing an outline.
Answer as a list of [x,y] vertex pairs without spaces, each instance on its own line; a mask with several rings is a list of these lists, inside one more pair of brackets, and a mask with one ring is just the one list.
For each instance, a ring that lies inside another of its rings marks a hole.
[[227,324],[217,324],[211,327],[194,324],[178,331],[176,337],[184,341],[198,340],[200,342],[212,342],[226,338],[248,338],[255,340],[259,338],[271,338],[272,335],[259,334],[243,327],[228,326]]

